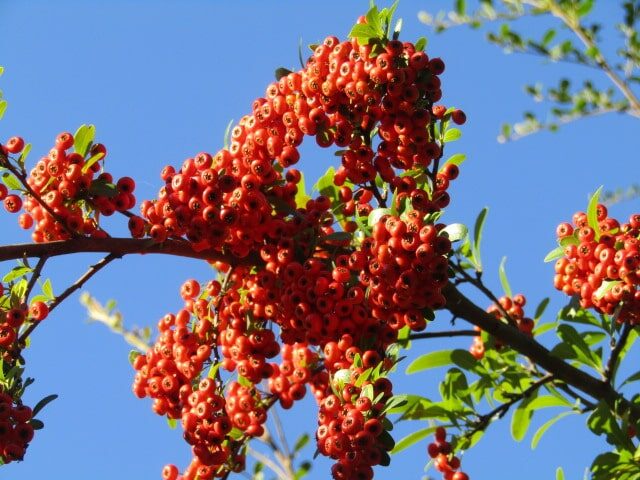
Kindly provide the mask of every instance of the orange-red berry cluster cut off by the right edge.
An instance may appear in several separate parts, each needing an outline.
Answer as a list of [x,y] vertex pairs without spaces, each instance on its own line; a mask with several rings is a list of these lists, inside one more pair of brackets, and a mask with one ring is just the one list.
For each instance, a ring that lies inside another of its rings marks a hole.
[[555,265],[554,286],[577,295],[583,308],[617,314],[620,322],[640,323],[640,214],[621,224],[597,207],[598,230],[584,212],[557,228],[565,256]]

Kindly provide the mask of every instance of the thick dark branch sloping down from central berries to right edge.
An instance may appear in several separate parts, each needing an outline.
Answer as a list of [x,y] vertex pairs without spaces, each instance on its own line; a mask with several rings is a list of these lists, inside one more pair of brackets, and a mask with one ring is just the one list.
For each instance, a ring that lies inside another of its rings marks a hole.
[[592,377],[586,372],[573,367],[551,352],[533,338],[522,334],[518,329],[507,325],[465,297],[456,287],[448,284],[443,289],[447,299],[445,308],[459,318],[477,325],[490,335],[509,345],[515,351],[529,357],[534,363],[561,380],[591,397],[605,402],[612,411],[631,412],[632,417],[640,418],[640,407],[633,405],[607,383]]

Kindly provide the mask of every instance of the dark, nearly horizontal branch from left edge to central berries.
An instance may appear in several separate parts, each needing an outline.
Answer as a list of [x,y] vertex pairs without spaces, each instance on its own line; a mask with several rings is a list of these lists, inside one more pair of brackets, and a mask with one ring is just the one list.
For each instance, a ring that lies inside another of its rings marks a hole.
[[79,237],[47,243],[22,243],[0,246],[0,262],[24,257],[56,257],[81,252],[113,253],[119,256],[134,253],[160,253],[178,257],[199,258],[232,264],[250,264],[252,257],[239,259],[214,249],[195,251],[185,240],[169,239],[155,243],[149,238],[91,238]]

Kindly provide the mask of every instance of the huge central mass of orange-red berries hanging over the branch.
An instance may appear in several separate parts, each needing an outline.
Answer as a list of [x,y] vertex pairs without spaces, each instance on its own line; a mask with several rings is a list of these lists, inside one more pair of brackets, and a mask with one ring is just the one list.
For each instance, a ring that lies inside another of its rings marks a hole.
[[[269,85],[228,148],[165,167],[157,198],[130,219],[134,237],[186,237],[234,257],[216,265],[223,281],[183,285],[184,309],[161,320],[134,365],[135,393],[182,420],[194,454],[186,480],[242,468],[241,442],[262,433],[272,404],[291,407],[307,386],[334,478],[368,480],[388,461],[387,347],[445,304],[451,242],[435,222],[458,168],[439,169],[433,126],[466,118],[434,105],[442,60],[397,40],[378,47],[325,39],[304,69]],[[327,194],[301,204],[292,167],[305,136],[342,150]],[[238,381],[225,387],[221,370]]]

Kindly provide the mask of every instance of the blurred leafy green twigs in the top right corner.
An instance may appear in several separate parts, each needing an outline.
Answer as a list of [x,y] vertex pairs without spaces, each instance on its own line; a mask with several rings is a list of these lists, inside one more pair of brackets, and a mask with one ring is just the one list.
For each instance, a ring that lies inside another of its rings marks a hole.
[[[566,75],[557,86],[545,88],[541,83],[526,85],[525,92],[535,101],[550,105],[546,118],[533,112],[525,112],[524,119],[513,125],[504,124],[498,141],[516,140],[526,135],[548,130],[555,132],[562,125],[595,115],[610,112],[640,114],[640,101],[633,88],[640,83],[637,70],[640,67],[640,38],[637,22],[640,14],[637,1],[620,2],[623,21],[616,24],[622,43],[617,45],[613,60],[605,58],[599,32],[601,23],[588,23],[594,0],[549,0],[526,2],[524,0],[481,0],[475,9],[467,8],[465,1],[452,2],[452,11],[437,14],[420,12],[420,20],[443,32],[452,27],[467,25],[472,28],[487,27],[486,38],[505,52],[536,55],[553,63],[578,64],[600,70],[611,81],[610,87],[598,87],[587,79],[575,88]],[[547,15],[557,26],[525,34],[516,29],[518,19]],[[490,28],[498,23],[497,28]],[[573,34],[559,35],[560,27]],[[609,48],[613,51],[614,49]]]

